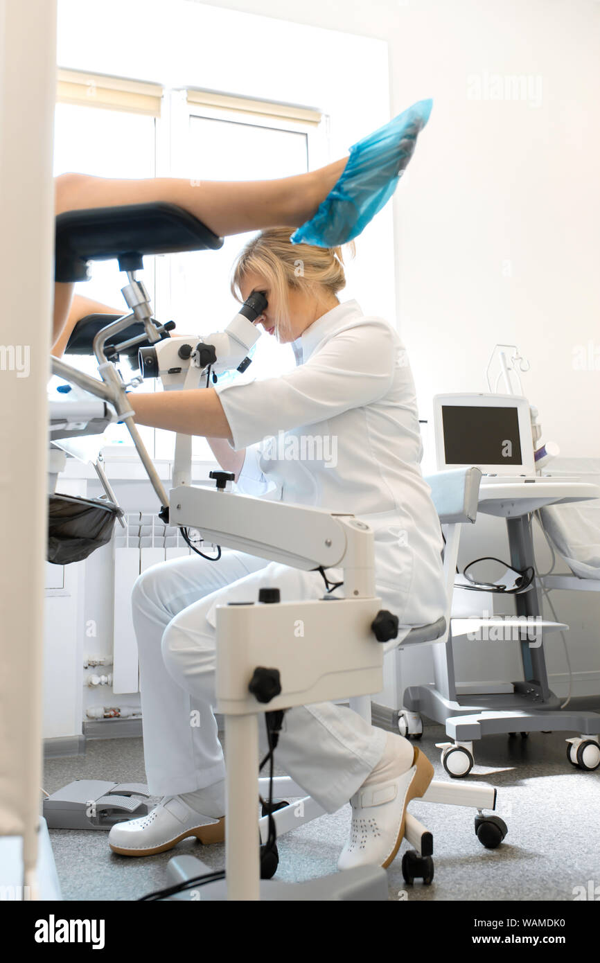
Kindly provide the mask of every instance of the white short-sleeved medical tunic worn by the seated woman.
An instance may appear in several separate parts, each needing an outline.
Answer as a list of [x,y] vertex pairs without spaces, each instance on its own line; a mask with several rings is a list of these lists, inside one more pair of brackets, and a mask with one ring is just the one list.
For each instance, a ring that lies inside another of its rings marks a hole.
[[240,490],[260,495],[274,484],[284,502],[364,519],[375,532],[385,606],[404,626],[434,622],[445,608],[443,542],[398,333],[350,300],[310,325],[294,349],[297,367],[287,375],[217,386],[233,448],[246,448]]

